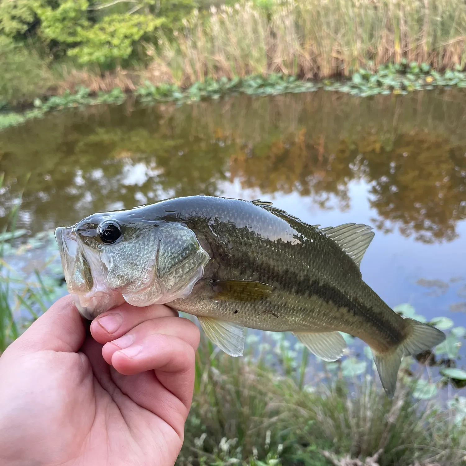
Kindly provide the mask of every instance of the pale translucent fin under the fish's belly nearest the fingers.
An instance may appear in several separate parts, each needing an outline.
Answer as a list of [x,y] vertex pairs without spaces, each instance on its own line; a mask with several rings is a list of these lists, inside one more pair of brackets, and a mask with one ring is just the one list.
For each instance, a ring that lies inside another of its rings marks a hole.
[[242,356],[246,329],[242,325],[212,317],[198,317],[207,337],[230,356]]

